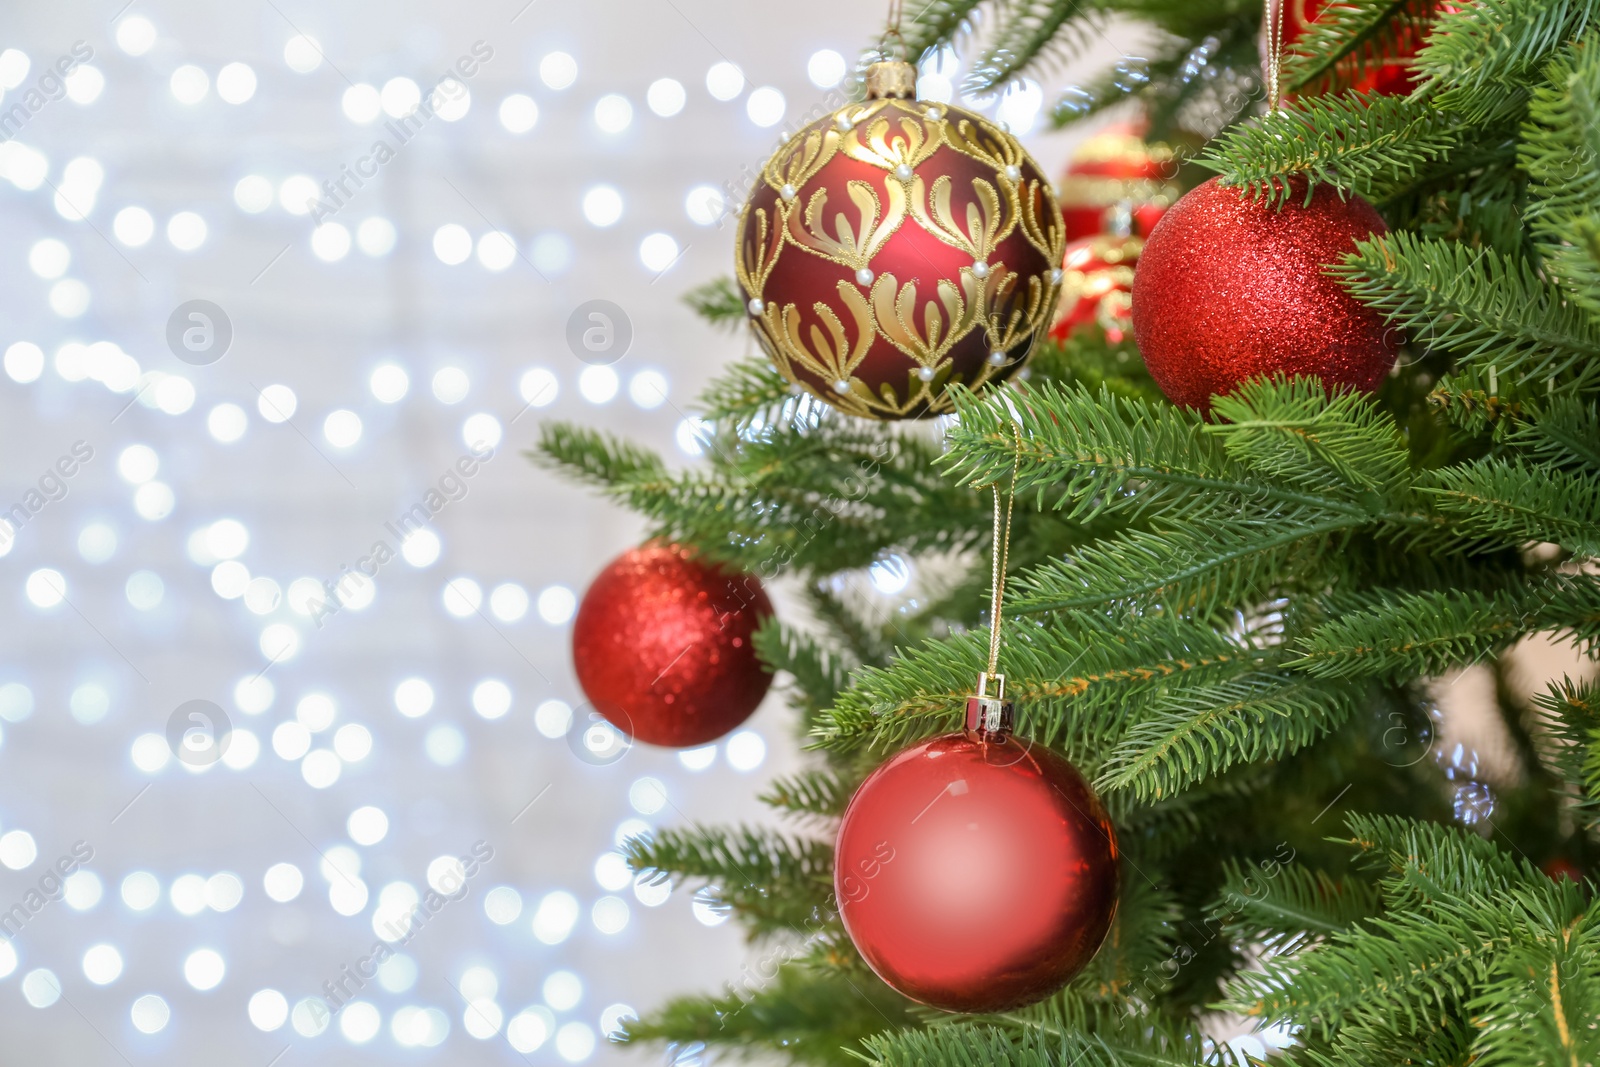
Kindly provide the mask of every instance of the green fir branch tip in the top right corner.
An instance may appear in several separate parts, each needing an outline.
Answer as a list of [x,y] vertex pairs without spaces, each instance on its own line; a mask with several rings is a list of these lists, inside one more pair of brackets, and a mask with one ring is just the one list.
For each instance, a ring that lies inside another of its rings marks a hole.
[[1474,0],[1442,10],[1418,53],[1418,94],[1485,120],[1526,96],[1539,66],[1600,13],[1595,0]]

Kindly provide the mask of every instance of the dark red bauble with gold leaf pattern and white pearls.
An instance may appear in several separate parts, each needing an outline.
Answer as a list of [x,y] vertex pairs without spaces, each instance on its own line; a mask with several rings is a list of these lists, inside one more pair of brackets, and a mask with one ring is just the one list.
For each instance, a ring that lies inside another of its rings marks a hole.
[[1021,368],[1066,246],[1038,165],[973,112],[877,62],[867,99],[794,134],[739,216],[736,267],[779,373],[872,419],[941,414],[947,389]]

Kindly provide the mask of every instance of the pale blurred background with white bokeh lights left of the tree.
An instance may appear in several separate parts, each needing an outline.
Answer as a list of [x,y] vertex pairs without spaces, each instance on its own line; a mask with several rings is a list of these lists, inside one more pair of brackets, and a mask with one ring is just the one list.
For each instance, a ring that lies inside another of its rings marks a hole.
[[[880,6],[0,13],[8,1062],[646,1062],[619,1019],[754,958],[616,845],[763,817],[781,697],[590,744],[568,627],[642,531],[522,451],[568,419],[694,462],[746,339],[682,294]],[[966,102],[1059,173],[1058,90]]]

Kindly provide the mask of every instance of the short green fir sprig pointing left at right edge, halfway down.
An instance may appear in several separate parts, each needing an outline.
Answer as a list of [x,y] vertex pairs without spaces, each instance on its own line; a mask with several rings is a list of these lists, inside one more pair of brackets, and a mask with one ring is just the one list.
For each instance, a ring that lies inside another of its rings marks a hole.
[[1418,486],[1467,537],[1501,544],[1550,541],[1600,555],[1600,472],[1480,459],[1430,474]]

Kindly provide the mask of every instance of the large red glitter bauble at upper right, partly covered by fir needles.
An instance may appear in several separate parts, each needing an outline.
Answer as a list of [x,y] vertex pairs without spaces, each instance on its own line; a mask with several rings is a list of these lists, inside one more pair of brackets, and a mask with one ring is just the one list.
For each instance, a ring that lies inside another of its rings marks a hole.
[[1387,234],[1360,197],[1304,186],[1282,208],[1213,178],[1144,242],[1133,278],[1133,334],[1173,403],[1272,374],[1314,374],[1328,389],[1373,390],[1394,366],[1398,333],[1325,270],[1355,242]]

